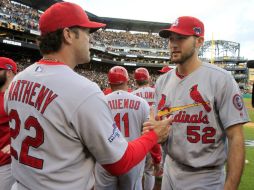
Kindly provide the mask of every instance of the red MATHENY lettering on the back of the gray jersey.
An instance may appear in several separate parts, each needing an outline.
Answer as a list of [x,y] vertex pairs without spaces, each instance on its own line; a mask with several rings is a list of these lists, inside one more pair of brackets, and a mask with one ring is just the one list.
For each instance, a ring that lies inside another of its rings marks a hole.
[[43,114],[57,96],[52,90],[39,83],[18,80],[11,83],[8,100],[28,104]]

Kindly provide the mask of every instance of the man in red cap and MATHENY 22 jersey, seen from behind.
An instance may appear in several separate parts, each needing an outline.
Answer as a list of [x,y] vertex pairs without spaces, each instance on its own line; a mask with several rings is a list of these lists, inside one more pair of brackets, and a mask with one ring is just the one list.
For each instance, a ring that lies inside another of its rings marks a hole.
[[98,85],[73,71],[90,61],[90,33],[104,26],[69,2],[41,15],[43,58],[16,75],[4,96],[16,179],[12,189],[90,190],[95,160],[113,175],[124,174],[168,135],[170,120],[151,117],[144,126],[155,130],[127,142]]

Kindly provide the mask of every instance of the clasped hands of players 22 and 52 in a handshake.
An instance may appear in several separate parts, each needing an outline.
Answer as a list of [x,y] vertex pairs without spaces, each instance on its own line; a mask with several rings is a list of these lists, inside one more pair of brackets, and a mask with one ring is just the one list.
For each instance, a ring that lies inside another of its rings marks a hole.
[[158,143],[164,142],[168,138],[168,134],[170,131],[170,125],[173,121],[173,118],[167,118],[161,121],[156,121],[154,117],[154,109],[150,108],[150,118],[147,122],[143,124],[143,132],[145,134],[151,130],[158,136]]

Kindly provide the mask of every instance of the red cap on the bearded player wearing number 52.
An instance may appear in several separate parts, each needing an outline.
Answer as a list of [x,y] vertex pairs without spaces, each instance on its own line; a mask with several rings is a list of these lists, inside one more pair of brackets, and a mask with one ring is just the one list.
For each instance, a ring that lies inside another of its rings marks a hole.
[[161,30],[159,35],[162,38],[168,38],[171,32],[186,36],[204,37],[205,28],[203,22],[199,19],[191,16],[182,16],[177,18],[169,28]]

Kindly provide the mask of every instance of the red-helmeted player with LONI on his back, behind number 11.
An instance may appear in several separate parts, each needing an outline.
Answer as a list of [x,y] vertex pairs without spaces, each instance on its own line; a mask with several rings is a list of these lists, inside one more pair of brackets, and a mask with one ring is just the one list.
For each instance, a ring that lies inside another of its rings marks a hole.
[[[155,89],[150,87],[150,75],[146,68],[140,67],[134,71],[134,79],[138,86],[138,89],[133,91],[132,93],[142,97],[145,99],[150,106],[154,105],[154,91]],[[153,158],[160,158],[160,159],[152,159],[151,154],[157,154],[157,157]],[[145,162],[145,170],[144,170],[144,189],[145,190],[152,190],[155,184],[155,177],[154,174],[158,174],[161,171],[161,147],[157,145],[153,148],[151,154],[147,154],[146,162]],[[159,156],[158,156],[159,155]],[[154,166],[154,167],[153,167]],[[154,172],[155,169],[155,172]]]

